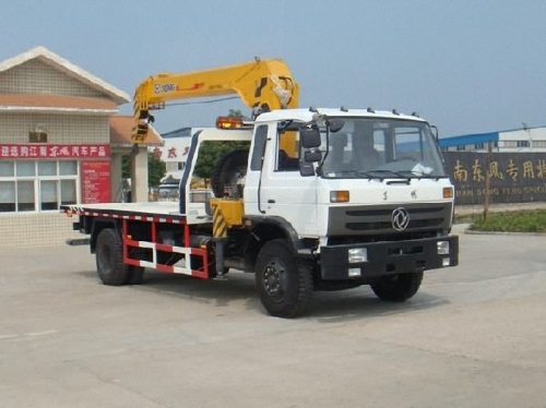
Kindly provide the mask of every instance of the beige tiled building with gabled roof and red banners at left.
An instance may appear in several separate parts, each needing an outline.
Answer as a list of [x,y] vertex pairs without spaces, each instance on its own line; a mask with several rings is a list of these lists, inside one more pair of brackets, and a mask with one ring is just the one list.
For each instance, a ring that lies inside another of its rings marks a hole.
[[[147,201],[147,148],[131,144],[122,91],[44,47],[0,62],[0,248],[62,244],[62,204],[120,201],[122,156],[133,201]],[[151,130],[151,145],[162,143]]]

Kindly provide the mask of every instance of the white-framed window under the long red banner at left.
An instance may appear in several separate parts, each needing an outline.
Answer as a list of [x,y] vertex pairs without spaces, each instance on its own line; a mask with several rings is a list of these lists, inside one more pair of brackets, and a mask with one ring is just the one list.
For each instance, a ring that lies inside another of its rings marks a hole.
[[78,203],[75,160],[0,163],[0,213],[58,211]]

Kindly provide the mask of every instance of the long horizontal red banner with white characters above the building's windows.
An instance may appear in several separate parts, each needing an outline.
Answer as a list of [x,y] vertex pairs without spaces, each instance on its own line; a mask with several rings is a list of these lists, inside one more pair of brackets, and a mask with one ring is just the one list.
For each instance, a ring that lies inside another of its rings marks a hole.
[[107,144],[0,144],[3,159],[108,158]]

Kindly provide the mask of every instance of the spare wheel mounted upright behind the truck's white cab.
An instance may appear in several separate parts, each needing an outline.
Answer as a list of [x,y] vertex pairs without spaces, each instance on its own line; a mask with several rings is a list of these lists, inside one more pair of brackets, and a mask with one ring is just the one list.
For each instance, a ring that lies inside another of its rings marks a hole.
[[216,197],[223,197],[225,191],[233,197],[239,197],[237,181],[247,172],[248,151],[237,149],[223,155],[211,171],[211,188]]

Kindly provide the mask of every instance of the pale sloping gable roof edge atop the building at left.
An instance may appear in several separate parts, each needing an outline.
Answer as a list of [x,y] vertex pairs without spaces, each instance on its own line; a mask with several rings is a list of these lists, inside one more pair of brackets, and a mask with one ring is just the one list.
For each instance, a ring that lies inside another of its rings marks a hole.
[[86,84],[87,86],[104,93],[112,99],[116,105],[123,105],[131,100],[131,97],[123,91],[118,89],[117,87],[108,84],[82,68],[74,65],[64,58],[59,57],[55,52],[51,52],[41,46],[35,47],[26,52],[20,53],[16,57],[0,62],[0,72],[8,71],[34,59],[38,59],[44,63],[63,72],[64,74]]

